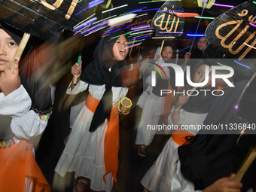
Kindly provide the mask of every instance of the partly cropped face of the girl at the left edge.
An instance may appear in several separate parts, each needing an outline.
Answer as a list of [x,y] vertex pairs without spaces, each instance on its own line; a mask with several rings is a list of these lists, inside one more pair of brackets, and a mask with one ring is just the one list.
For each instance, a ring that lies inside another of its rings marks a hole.
[[17,48],[18,45],[14,39],[0,28],[0,72],[3,72],[6,67],[10,69]]

